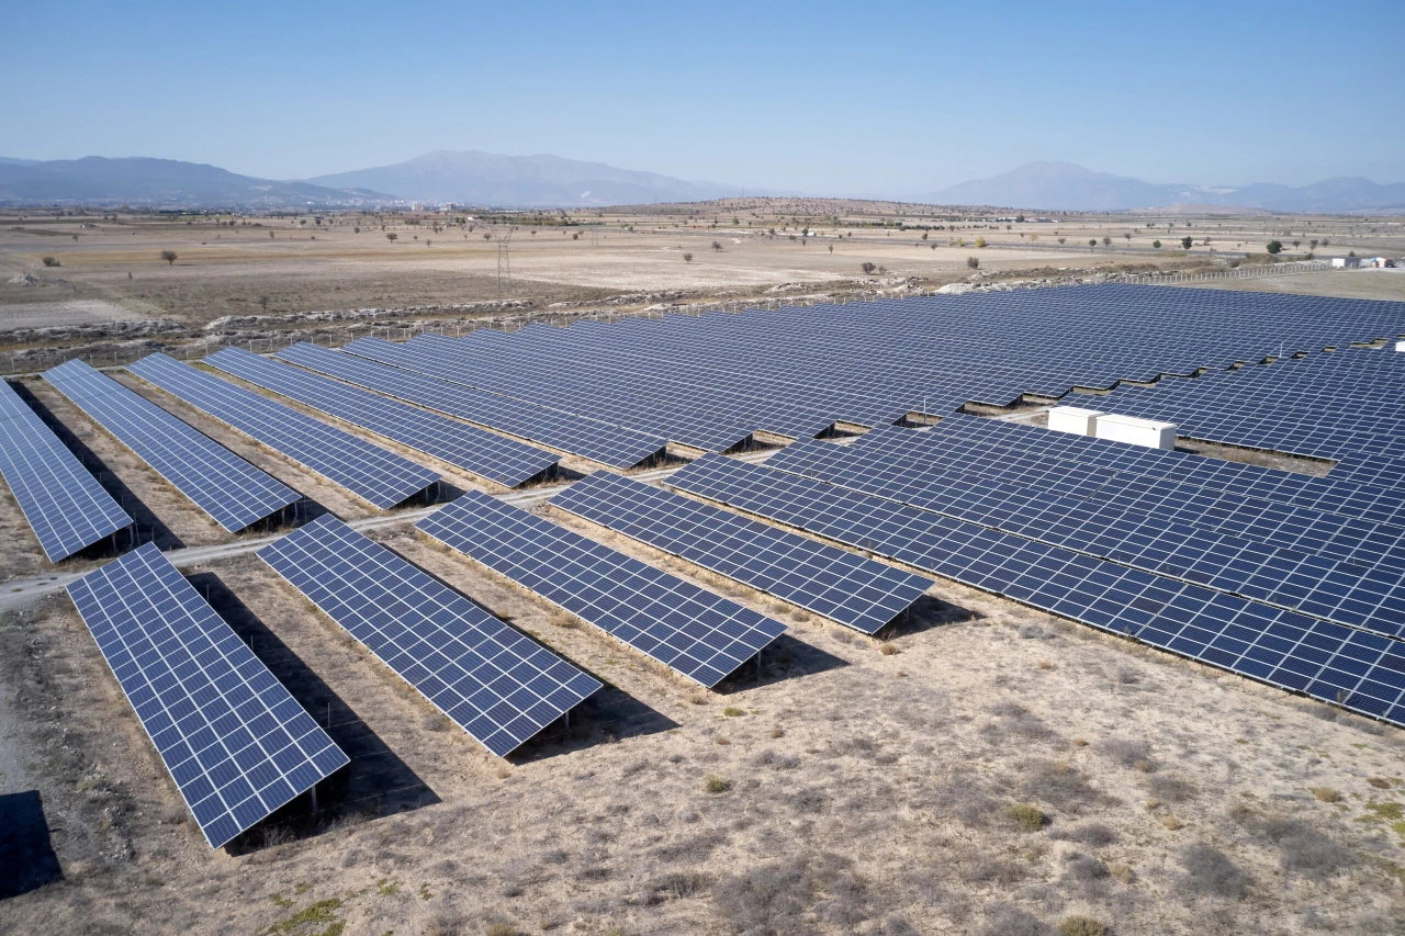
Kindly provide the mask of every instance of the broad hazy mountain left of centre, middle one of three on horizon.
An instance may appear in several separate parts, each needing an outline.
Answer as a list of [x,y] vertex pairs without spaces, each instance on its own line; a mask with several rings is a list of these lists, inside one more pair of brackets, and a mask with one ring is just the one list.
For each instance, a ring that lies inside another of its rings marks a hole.
[[705,201],[742,191],[738,186],[691,183],[561,156],[499,156],[478,150],[437,150],[393,166],[308,181],[389,191],[413,201],[562,208]]

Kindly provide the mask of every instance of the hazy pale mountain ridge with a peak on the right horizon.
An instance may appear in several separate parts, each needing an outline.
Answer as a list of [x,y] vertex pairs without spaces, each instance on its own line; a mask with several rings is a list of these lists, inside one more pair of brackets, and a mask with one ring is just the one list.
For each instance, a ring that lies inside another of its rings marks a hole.
[[993,178],[960,183],[920,197],[933,204],[1002,205],[1045,211],[1125,211],[1168,205],[1235,205],[1269,211],[1347,212],[1405,201],[1405,184],[1368,178],[1328,178],[1293,188],[1252,186],[1158,184],[1094,173],[1072,163],[1027,163]]

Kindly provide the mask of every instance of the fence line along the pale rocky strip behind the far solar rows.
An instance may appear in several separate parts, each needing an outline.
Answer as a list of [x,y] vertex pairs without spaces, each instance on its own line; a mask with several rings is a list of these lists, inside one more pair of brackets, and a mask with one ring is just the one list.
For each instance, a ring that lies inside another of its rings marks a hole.
[[[1121,282],[1132,285],[1179,285],[1186,282],[1211,282],[1217,280],[1250,280],[1256,277],[1266,275],[1283,275],[1288,273],[1315,273],[1319,270],[1329,270],[1332,267],[1328,260],[1295,260],[1291,263],[1279,263],[1270,266],[1256,266],[1256,267],[1234,267],[1227,270],[1211,270],[1205,273],[1163,273],[1163,274],[1113,274],[1104,280],[1093,280],[1083,282],[1082,285],[1096,285],[1107,282]],[[441,322],[437,325],[430,323],[410,323],[410,325],[350,325],[341,329],[315,329],[306,337],[298,340],[312,342],[323,347],[341,347],[350,344],[351,342],[361,337],[379,337],[386,342],[407,342],[412,337],[420,334],[443,334],[445,337],[464,337],[482,327],[497,327],[504,332],[518,332],[530,319],[534,323],[549,323],[549,325],[569,325],[570,322],[615,322],[622,318],[643,318],[643,319],[662,319],[665,315],[702,315],[705,312],[740,312],[743,309],[778,309],[784,306],[799,306],[811,308],[819,304],[823,305],[847,305],[850,302],[880,302],[891,298],[910,298],[910,297],[932,297],[937,295],[939,290],[908,290],[901,294],[894,295],[884,294],[881,290],[875,290],[867,295],[844,297],[844,298],[819,298],[819,297],[773,297],[764,299],[732,299],[726,302],[695,302],[683,306],[673,306],[666,309],[638,309],[634,312],[620,311],[620,309],[590,309],[584,312],[551,312],[523,309],[523,318],[507,319],[497,323],[485,322],[481,319],[457,320],[457,322]],[[195,342],[187,342],[180,346],[162,349],[171,357],[192,361],[202,357],[208,357],[216,351],[226,347],[240,347],[246,351],[253,351],[256,354],[270,354],[289,344],[289,336],[280,337],[246,337],[246,339],[225,339],[225,337],[207,337]],[[105,354],[93,354],[83,349],[51,349],[41,356],[25,356],[24,364],[21,365],[20,354],[17,351],[4,353],[3,365],[4,374],[35,374],[39,371],[49,370],[51,367],[58,367],[66,361],[77,357],[84,357],[93,367],[125,367],[133,361],[140,360],[149,351],[128,351],[114,350]],[[22,367],[22,370],[21,370]]]

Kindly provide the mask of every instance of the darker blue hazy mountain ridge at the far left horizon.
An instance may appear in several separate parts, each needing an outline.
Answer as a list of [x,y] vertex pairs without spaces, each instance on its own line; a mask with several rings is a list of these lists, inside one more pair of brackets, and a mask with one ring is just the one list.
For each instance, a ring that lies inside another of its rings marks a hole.
[[0,162],[0,204],[128,204],[150,208],[343,207],[393,201],[381,193],[239,176],[173,159],[55,159]]

